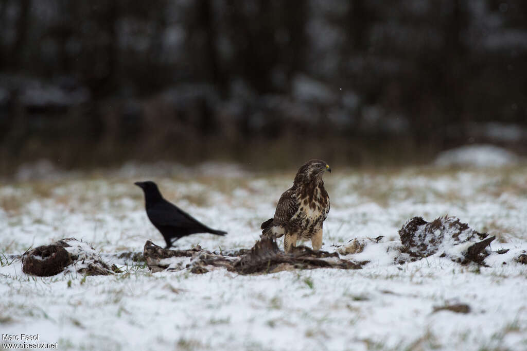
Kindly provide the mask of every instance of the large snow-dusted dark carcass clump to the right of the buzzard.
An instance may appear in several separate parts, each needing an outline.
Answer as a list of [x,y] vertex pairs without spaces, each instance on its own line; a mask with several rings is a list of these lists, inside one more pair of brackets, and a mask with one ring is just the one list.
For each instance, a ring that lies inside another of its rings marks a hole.
[[414,259],[424,258],[442,252],[461,264],[476,262],[482,264],[490,251],[486,247],[496,237],[487,237],[462,223],[455,217],[440,217],[432,222],[414,217],[399,230],[403,253]]

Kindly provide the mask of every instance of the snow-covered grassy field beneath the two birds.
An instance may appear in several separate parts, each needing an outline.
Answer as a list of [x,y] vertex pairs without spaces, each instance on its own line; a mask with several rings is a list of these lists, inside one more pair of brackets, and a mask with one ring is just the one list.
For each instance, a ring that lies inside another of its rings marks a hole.
[[[383,235],[379,245],[342,256],[370,260],[363,269],[151,274],[114,258],[110,264],[124,266],[124,273],[27,276],[9,254],[65,237],[89,242],[103,256],[142,251],[147,239],[163,245],[145,214],[142,191],[133,185],[138,180],[158,182],[165,198],[229,232],[186,237],[177,242],[179,248],[198,243],[208,250],[250,248],[294,173],[254,174],[209,164],[173,173],[144,167],[4,182],[1,333],[38,334],[38,342],[57,342],[58,349],[527,349],[526,265],[506,255],[506,264],[493,256],[490,267],[461,266],[437,255],[394,265],[383,249],[383,242],[398,240],[406,220],[445,214],[496,235],[492,250],[527,249],[526,165],[331,168],[325,176],[331,210],[323,250]],[[468,304],[470,313],[433,312],[453,303]]]

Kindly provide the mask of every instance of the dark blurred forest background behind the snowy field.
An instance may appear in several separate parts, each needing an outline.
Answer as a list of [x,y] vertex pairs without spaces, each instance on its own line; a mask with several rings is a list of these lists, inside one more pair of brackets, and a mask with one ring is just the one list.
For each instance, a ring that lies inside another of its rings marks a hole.
[[0,0],[3,173],[527,153],[522,0]]

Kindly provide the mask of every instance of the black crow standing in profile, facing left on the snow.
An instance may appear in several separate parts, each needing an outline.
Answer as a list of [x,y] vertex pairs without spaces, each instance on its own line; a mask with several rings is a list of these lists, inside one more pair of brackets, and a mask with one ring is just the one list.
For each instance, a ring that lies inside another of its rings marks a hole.
[[148,219],[163,235],[167,242],[166,249],[170,248],[176,240],[195,233],[227,234],[226,231],[211,229],[203,225],[187,212],[163,199],[154,182],[145,181],[134,184],[144,191]]

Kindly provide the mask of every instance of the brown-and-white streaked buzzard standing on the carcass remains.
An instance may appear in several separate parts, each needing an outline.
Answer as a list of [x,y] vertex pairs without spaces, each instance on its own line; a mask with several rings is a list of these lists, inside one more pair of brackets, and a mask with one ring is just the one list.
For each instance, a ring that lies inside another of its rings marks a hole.
[[314,250],[322,247],[322,225],[329,212],[329,196],[322,180],[326,171],[331,169],[323,160],[310,160],[300,167],[293,186],[278,200],[275,217],[262,223],[262,236],[285,235],[286,252],[299,239],[311,239]]

